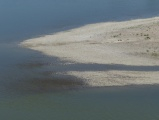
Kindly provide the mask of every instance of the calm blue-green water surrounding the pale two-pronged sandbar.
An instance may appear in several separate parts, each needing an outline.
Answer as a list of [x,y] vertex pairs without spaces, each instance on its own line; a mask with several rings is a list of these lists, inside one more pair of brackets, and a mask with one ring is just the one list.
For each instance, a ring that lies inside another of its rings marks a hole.
[[157,120],[158,86],[86,89],[69,70],[158,71],[120,65],[65,66],[23,49],[32,37],[103,21],[159,15],[158,0],[0,0],[0,119]]

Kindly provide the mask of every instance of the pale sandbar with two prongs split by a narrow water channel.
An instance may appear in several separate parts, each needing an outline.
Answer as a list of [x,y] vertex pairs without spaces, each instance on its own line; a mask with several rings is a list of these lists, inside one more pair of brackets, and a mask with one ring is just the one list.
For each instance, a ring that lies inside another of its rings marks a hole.
[[[159,65],[159,17],[90,24],[20,45],[73,63]],[[69,71],[90,86],[159,84],[159,71]]]

